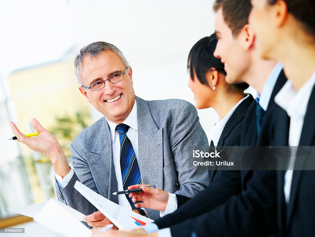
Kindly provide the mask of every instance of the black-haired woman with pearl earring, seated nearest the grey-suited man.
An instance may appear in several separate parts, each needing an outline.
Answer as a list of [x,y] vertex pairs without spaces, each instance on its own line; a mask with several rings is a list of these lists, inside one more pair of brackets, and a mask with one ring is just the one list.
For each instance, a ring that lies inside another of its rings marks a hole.
[[[210,131],[210,147],[239,145],[243,118],[253,97],[244,94],[248,84],[230,85],[226,82],[224,64],[213,55],[216,44],[217,39],[213,34],[200,39],[192,47],[187,60],[190,74],[188,86],[194,94],[198,109],[211,107],[219,115],[219,120]],[[129,189],[138,187],[140,185],[130,186]],[[168,215],[168,218],[161,219],[163,223],[157,220],[157,225],[164,225],[166,222],[175,224],[202,215],[241,192],[239,171],[222,170],[209,170],[209,187],[189,202],[187,201],[190,198],[184,196],[166,193],[157,188],[141,187],[144,192],[129,194],[133,201],[142,201],[135,204],[136,207],[160,210],[161,216],[165,216],[181,206],[174,214]],[[206,200],[211,200],[211,203],[207,201],[207,207],[204,207],[201,203]],[[192,209],[192,206],[195,208]]]

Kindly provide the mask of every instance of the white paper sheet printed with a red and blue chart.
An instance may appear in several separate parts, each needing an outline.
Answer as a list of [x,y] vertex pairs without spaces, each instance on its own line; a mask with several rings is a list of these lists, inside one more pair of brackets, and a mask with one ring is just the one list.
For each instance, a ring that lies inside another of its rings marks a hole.
[[128,210],[118,204],[104,198],[93,190],[89,189],[79,181],[76,181],[74,188],[88,199],[101,213],[103,213],[119,229],[133,229],[137,226],[144,226],[153,220],[141,216],[132,210]]

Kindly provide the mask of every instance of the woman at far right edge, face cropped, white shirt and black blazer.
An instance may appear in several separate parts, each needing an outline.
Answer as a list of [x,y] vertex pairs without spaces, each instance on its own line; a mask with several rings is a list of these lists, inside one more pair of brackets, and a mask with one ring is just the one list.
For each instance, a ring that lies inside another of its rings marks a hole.
[[291,148],[288,170],[277,173],[279,229],[281,236],[315,236],[314,157],[298,158],[292,149],[315,144],[315,1],[251,3],[260,55],[281,62],[289,79],[275,97],[276,142]]

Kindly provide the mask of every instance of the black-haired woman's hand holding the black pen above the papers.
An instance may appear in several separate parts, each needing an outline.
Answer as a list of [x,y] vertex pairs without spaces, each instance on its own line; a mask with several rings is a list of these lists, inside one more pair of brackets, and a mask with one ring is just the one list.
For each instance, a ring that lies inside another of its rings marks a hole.
[[142,203],[136,203],[135,207],[150,208],[153,210],[165,210],[169,201],[169,193],[158,189],[148,187],[147,185],[137,184],[128,187],[130,189],[138,189],[141,187],[142,192],[129,193],[129,198],[132,197],[132,201],[142,201]]

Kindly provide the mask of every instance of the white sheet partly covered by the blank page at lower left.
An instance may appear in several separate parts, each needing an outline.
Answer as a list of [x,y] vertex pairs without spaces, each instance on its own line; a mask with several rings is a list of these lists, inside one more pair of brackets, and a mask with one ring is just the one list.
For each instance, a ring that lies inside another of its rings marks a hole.
[[[66,204],[63,204],[62,202],[54,199],[57,204],[65,208],[72,216],[74,216],[77,221],[83,221],[83,217],[85,216],[83,213],[67,206]],[[35,216],[43,209],[43,207],[48,203],[49,201],[29,205],[25,207],[19,207],[19,208],[8,208],[10,211],[14,211],[16,213],[19,213],[23,216],[29,216],[32,218],[35,218]]]

